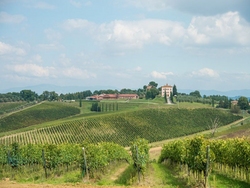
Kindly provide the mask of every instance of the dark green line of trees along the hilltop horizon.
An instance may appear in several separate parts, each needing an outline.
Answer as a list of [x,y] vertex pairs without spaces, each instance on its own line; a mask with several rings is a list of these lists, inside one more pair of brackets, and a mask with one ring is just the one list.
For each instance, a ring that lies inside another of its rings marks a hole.
[[[123,88],[120,91],[117,89],[107,89],[107,90],[95,90],[94,92],[90,90],[75,92],[75,93],[66,93],[58,94],[55,91],[44,91],[41,95],[38,95],[31,90],[22,90],[20,92],[9,92],[6,94],[0,94],[0,102],[16,102],[16,101],[57,101],[57,100],[80,100],[85,99],[86,97],[92,95],[100,94],[137,94],[140,99],[154,99],[157,96],[161,96],[161,87],[158,87],[158,83],[155,81],[150,81],[147,85],[144,85],[139,89],[128,89]],[[175,100],[174,100],[175,98]],[[165,99],[166,100],[166,99]],[[238,99],[238,104],[232,106],[232,99],[229,99],[227,96],[220,95],[203,95],[201,96],[198,90],[186,93],[178,93],[176,85],[173,86],[173,91],[170,95],[170,100],[172,102],[199,102],[203,104],[210,104],[213,107],[217,108],[226,108],[232,109],[237,112],[240,109],[249,110],[249,101],[248,98],[242,96]]]

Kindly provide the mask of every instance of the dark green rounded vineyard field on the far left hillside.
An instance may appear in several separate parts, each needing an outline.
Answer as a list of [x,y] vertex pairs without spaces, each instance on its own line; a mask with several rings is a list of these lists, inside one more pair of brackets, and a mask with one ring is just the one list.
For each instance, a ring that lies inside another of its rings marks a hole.
[[0,119],[0,132],[12,131],[79,113],[80,110],[76,107],[58,102],[45,102]]

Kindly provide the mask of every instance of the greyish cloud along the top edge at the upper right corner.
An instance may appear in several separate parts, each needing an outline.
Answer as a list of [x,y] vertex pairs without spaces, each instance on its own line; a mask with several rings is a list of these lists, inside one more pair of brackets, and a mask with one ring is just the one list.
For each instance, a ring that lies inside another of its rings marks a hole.
[[228,11],[237,11],[240,12],[245,19],[250,21],[249,10],[246,8],[250,6],[248,0],[125,0],[123,4],[143,8],[149,11],[166,11],[167,9],[172,8],[183,13],[204,16],[223,14]]

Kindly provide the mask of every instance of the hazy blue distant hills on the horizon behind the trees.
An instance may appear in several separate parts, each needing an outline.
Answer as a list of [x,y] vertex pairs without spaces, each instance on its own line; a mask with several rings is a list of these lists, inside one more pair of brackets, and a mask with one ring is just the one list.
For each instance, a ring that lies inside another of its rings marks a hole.
[[[34,85],[34,86],[27,86],[27,87],[14,87],[6,90],[0,91],[0,93],[8,93],[8,92],[20,92],[23,89],[30,89],[32,91],[35,91],[39,95],[43,93],[43,91],[55,91],[58,94],[66,94],[66,93],[75,93],[75,92],[81,92],[81,91],[95,91],[95,90],[107,90],[107,89],[117,89],[113,86],[57,86],[53,84],[40,84],[40,85]],[[133,89],[133,88],[130,88]],[[225,95],[232,99],[238,99],[240,96],[245,96],[250,99],[250,89],[241,89],[241,90],[229,90],[229,91],[217,91],[217,90],[199,90],[201,95]],[[179,93],[186,93],[189,94],[194,90],[192,89],[178,89]]]

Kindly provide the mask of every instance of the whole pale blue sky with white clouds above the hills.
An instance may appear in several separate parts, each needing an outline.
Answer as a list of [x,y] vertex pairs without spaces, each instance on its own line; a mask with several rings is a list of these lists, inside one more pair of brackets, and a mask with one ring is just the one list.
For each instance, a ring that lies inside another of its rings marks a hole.
[[250,89],[249,0],[0,0],[0,91]]

